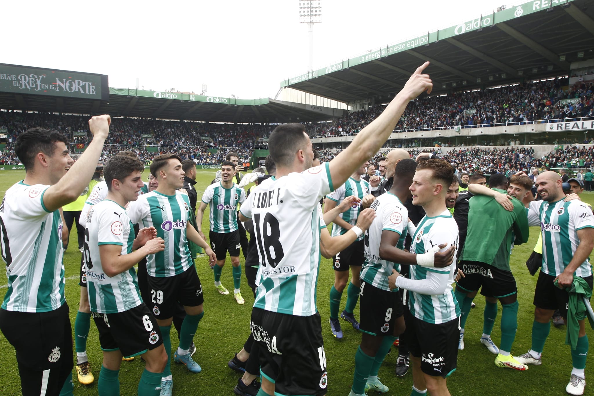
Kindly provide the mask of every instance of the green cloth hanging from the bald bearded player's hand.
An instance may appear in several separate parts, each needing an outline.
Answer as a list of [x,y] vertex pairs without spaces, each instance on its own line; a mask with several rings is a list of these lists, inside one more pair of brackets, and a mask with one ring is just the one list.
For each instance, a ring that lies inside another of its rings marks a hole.
[[[555,280],[555,286],[559,287],[558,280]],[[589,302],[592,297],[592,289],[583,278],[573,277],[570,287],[565,287],[569,293],[569,305],[567,309],[567,335],[565,335],[565,344],[571,345],[571,349],[576,349],[577,338],[579,338],[579,321],[588,318],[590,327],[594,328],[594,320],[587,315],[586,301]]]

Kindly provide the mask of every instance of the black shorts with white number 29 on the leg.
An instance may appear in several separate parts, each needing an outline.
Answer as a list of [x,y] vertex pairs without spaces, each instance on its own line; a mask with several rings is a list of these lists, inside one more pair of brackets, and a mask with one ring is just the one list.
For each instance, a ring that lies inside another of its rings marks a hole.
[[147,304],[157,319],[169,319],[175,315],[178,302],[185,306],[204,303],[202,285],[194,265],[172,277],[147,275],[150,302]]

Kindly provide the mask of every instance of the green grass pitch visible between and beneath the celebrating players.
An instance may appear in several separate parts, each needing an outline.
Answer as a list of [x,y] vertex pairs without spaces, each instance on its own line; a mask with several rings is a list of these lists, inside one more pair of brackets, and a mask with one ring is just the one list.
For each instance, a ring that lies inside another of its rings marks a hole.
[[[198,198],[201,197],[208,183],[214,178],[212,170],[198,170],[197,184]],[[148,172],[144,173],[144,179]],[[0,173],[0,199],[12,184],[24,178],[23,171],[9,171]],[[584,193],[582,199],[594,204],[594,194]],[[207,210],[208,211],[208,210]],[[208,213],[204,214],[203,231],[208,230]],[[27,232],[27,230],[23,230]],[[511,268],[518,285],[518,299],[520,303],[518,312],[518,331],[514,342],[512,354],[518,355],[530,349],[530,333],[534,307],[532,298],[536,284],[536,276],[532,277],[526,269],[526,259],[538,237],[538,228],[530,229],[530,240],[525,245],[516,246],[511,255]],[[241,262],[244,258],[241,256]],[[190,373],[185,366],[172,362],[173,392],[176,395],[233,395],[233,387],[237,384],[239,374],[227,366],[233,353],[238,352],[249,334],[249,316],[254,303],[251,290],[247,286],[245,275],[242,279],[242,294],[245,305],[238,305],[233,295],[222,296],[214,289],[213,272],[207,264],[206,258],[198,257],[195,261],[198,275],[204,290],[204,319],[194,337],[196,354],[194,360],[202,366],[202,372]],[[77,249],[76,235],[71,236],[68,251],[64,255],[66,268],[66,299],[70,307],[72,330],[74,319],[80,299],[78,274],[80,265],[80,252]],[[7,279],[5,274],[0,275],[0,293],[4,297]],[[223,268],[221,278],[223,285],[232,287],[230,260]],[[326,351],[328,369],[328,396],[347,395],[352,383],[355,369],[355,351],[361,341],[361,335],[353,330],[350,325],[341,321],[345,337],[336,340],[330,332],[328,325],[329,302],[328,293],[334,282],[334,271],[331,261],[322,258],[320,279],[318,281],[318,309],[322,318],[324,335],[324,350]],[[346,302],[346,293],[343,295],[341,309]],[[541,366],[529,366],[529,370],[518,372],[511,369],[497,368],[494,365],[495,355],[480,343],[482,334],[485,300],[482,296],[475,298],[476,308],[472,309],[466,322],[465,350],[459,351],[457,370],[448,378],[448,388],[453,395],[562,395],[565,394],[571,373],[570,347],[565,345],[565,326],[555,328],[551,325],[551,333],[545,344]],[[355,309],[355,316],[359,318],[359,306]],[[501,331],[501,306],[497,321],[492,332],[495,344],[499,344]],[[587,327],[590,340],[594,340],[594,331]],[[173,330],[175,331],[175,330]],[[177,343],[175,334],[172,334],[172,349]],[[594,344],[594,343],[592,343]],[[99,376],[102,353],[97,338],[97,328],[91,323],[91,330],[87,342],[87,353],[91,362],[95,382],[92,385],[80,385],[76,372],[73,372],[75,395],[97,395],[97,378]],[[381,381],[390,387],[391,395],[409,395],[412,387],[412,375],[406,374],[403,378],[394,375],[396,366],[397,349],[393,348],[388,354],[379,376]],[[135,395],[138,381],[144,369],[140,359],[132,362],[122,362],[120,370],[120,389],[122,395]],[[592,362],[586,365],[586,395],[594,394],[594,369]],[[20,378],[18,376],[15,352],[3,335],[0,335],[0,396],[20,394]],[[370,395],[374,392],[369,392]]]

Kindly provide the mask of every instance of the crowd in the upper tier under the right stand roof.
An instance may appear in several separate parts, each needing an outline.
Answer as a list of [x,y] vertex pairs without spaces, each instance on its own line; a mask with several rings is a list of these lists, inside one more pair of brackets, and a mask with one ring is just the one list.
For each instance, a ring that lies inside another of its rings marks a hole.
[[[431,128],[473,128],[508,123],[520,125],[544,120],[575,119],[594,116],[591,83],[579,83],[564,90],[567,78],[508,85],[448,94],[420,97],[408,104],[395,130]],[[579,103],[557,104],[561,99],[579,99]],[[345,118],[315,125],[318,136],[357,134],[385,108],[372,106],[349,113]]]

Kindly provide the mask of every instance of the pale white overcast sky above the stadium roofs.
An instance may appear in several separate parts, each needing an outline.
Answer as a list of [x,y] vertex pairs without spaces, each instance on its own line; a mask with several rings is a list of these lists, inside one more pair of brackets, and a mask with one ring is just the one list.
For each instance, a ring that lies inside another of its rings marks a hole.
[[[322,0],[313,68],[469,21],[502,4]],[[138,78],[147,90],[200,93],[206,84],[209,96],[274,99],[280,81],[308,69],[299,0],[8,1],[2,15],[1,63],[107,74],[115,88],[135,88]]]

